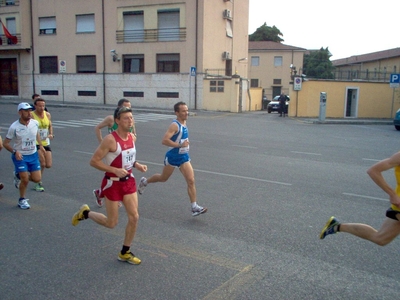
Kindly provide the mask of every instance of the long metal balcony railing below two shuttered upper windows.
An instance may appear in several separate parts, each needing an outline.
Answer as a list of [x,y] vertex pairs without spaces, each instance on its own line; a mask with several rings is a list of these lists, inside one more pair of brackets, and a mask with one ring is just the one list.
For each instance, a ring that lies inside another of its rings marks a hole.
[[117,30],[117,43],[185,41],[186,28]]

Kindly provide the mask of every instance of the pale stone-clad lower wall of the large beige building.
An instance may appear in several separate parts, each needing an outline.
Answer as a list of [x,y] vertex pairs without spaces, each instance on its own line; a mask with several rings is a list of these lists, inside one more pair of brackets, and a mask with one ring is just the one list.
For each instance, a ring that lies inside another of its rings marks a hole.
[[[22,83],[31,82],[32,76],[23,76]],[[191,82],[190,82],[191,80]],[[105,99],[107,104],[116,104],[119,99],[127,98],[133,107],[171,108],[176,102],[184,101],[190,109],[195,108],[194,84],[197,80],[202,90],[202,79],[187,74],[106,74]],[[81,102],[103,104],[102,74],[40,74],[35,76],[36,93],[47,101]],[[58,95],[43,95],[44,90],[58,91]],[[78,96],[78,91],[95,91],[96,96]],[[143,97],[127,97],[124,92],[144,92]],[[157,92],[178,92],[179,98],[158,98]],[[30,99],[32,88],[21,84],[23,99]],[[201,99],[200,97],[198,97]],[[202,102],[197,105],[201,106]]]

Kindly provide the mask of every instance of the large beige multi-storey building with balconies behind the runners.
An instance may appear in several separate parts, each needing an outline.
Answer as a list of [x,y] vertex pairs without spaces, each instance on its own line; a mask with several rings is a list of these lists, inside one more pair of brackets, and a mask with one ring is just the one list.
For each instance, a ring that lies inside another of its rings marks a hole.
[[0,0],[0,101],[248,110],[248,14],[249,0]]

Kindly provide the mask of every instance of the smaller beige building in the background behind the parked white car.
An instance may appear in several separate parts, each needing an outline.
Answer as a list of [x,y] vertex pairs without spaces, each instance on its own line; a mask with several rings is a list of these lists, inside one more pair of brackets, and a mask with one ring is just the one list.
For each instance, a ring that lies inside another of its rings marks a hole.
[[272,100],[289,94],[292,76],[301,75],[306,49],[271,41],[249,42],[249,78],[251,88],[262,88]]

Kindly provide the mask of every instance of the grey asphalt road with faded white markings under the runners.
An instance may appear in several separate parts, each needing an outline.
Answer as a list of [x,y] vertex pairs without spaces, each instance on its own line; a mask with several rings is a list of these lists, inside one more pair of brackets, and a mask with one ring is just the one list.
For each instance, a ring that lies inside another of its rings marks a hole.
[[[198,112],[188,121],[190,153],[208,212],[191,216],[178,170],[149,185],[132,247],[142,264],[133,266],[117,261],[123,208],[112,230],[91,220],[71,225],[83,203],[104,211],[92,195],[102,174],[89,159],[94,124],[111,110],[50,112],[54,163],[46,191],[28,191],[30,210],[17,208],[10,154],[0,152],[0,299],[397,299],[398,239],[385,247],[343,233],[319,240],[332,215],[382,223],[388,198],[366,170],[399,150],[393,126]],[[147,175],[160,172],[173,116],[135,117],[137,160]],[[15,105],[0,104],[3,138],[16,119]],[[385,177],[395,184],[393,172]]]

